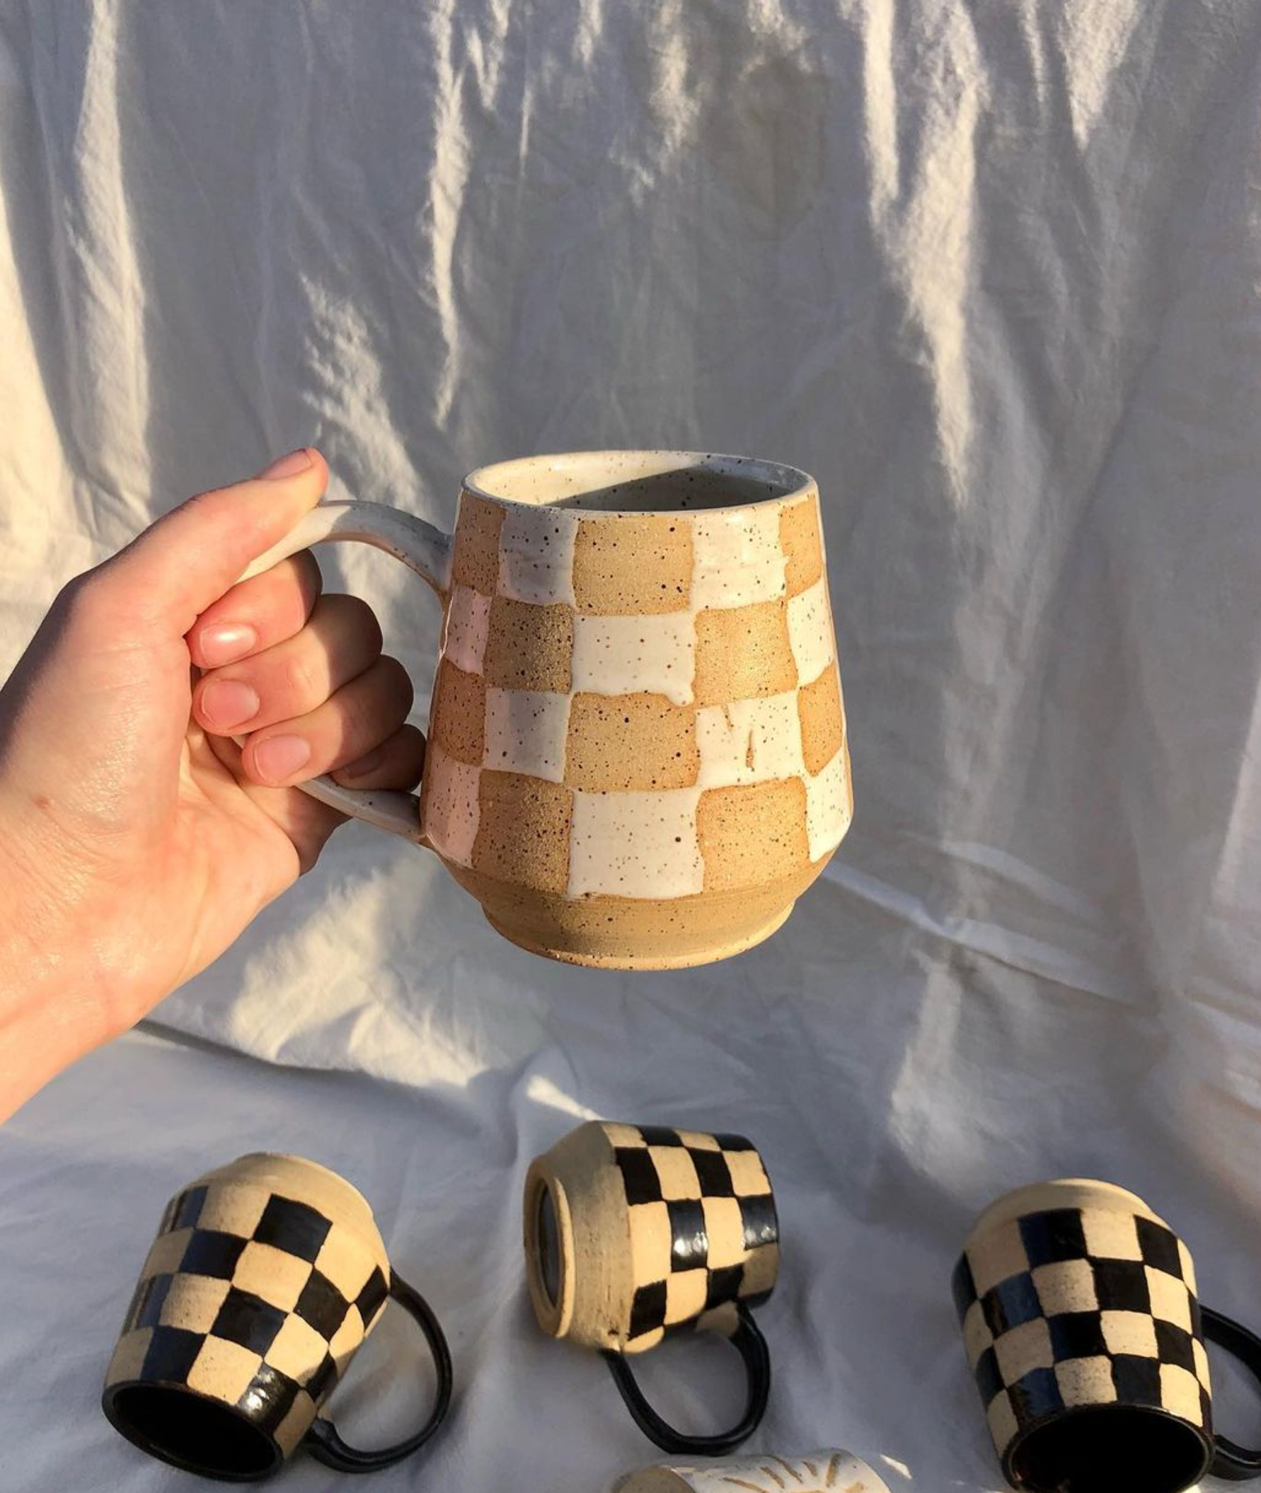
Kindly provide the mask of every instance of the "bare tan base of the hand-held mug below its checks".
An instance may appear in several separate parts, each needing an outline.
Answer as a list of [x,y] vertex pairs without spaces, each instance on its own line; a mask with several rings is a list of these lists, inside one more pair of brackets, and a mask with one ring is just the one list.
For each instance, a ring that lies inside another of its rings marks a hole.
[[782,927],[831,858],[761,887],[663,900],[564,897],[443,861],[510,944],[588,969],[689,969],[754,948]]

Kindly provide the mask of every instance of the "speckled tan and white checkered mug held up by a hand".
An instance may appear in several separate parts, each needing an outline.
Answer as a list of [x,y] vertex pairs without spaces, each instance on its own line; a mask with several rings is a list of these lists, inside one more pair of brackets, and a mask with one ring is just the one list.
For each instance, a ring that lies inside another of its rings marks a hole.
[[454,536],[321,503],[246,572],[331,539],[439,594],[419,802],[307,784],[437,851],[551,959],[666,969],[769,938],[852,794],[819,494],[792,467],[592,451],[482,467]]

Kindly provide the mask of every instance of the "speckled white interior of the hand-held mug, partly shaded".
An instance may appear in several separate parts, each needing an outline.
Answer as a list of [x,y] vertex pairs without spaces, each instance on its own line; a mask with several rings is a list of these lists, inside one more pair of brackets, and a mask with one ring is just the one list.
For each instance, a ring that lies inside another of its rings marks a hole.
[[804,491],[795,467],[700,451],[575,451],[481,467],[464,488],[498,503],[604,514],[746,508]]

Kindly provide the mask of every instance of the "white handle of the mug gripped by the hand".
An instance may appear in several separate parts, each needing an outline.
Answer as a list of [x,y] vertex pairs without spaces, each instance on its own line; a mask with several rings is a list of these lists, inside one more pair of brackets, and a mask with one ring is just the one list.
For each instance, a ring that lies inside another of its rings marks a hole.
[[[303,521],[285,537],[272,545],[239,576],[251,576],[270,570],[281,560],[288,560],[298,549],[312,545],[331,543],[343,539],[358,539],[401,560],[425,581],[439,597],[445,597],[451,585],[451,534],[427,524],[413,514],[387,508],[384,503],[334,502],[316,505]],[[298,787],[312,799],[327,803],[340,814],[373,824],[388,835],[401,835],[416,845],[425,844],[421,835],[421,800],[415,793],[391,793],[375,788],[343,788],[328,776],[312,778]]]

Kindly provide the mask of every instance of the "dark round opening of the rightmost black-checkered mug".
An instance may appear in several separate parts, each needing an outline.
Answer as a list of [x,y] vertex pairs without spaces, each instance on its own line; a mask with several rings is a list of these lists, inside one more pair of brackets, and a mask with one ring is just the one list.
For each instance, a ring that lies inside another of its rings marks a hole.
[[1212,1462],[1207,1438],[1145,1405],[1085,1405],[1018,1438],[1010,1481],[1031,1493],[1183,1493]]

